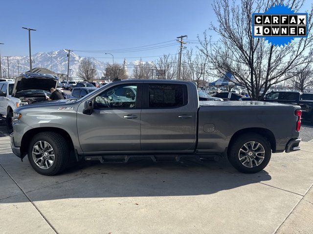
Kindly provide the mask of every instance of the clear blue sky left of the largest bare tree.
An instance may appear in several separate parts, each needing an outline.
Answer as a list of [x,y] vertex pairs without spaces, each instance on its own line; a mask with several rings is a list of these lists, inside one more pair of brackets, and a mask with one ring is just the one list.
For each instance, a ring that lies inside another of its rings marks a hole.
[[[0,6],[0,42],[5,43],[0,47],[2,56],[28,55],[28,34],[22,27],[37,29],[31,33],[35,54],[66,48],[123,49],[175,40],[180,35],[196,39],[214,20],[208,0],[6,0]],[[171,43],[175,41],[166,44]],[[175,54],[178,47],[177,43],[155,50],[114,53],[114,57],[121,61],[117,58]]]

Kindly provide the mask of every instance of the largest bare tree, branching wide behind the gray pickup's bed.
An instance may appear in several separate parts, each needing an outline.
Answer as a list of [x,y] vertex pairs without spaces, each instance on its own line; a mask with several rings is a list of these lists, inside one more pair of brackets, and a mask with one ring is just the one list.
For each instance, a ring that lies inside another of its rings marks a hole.
[[[206,32],[198,37],[200,51],[207,57],[211,75],[231,72],[246,87],[251,98],[262,99],[272,85],[297,76],[300,65],[313,61],[313,9],[308,19],[308,38],[297,39],[286,46],[268,44],[252,37],[252,13],[264,13],[275,3],[285,4],[297,12],[304,0],[215,0],[212,4],[218,25],[210,30],[220,36],[212,41]],[[264,92],[261,92],[263,91]],[[259,96],[260,95],[260,96]]]

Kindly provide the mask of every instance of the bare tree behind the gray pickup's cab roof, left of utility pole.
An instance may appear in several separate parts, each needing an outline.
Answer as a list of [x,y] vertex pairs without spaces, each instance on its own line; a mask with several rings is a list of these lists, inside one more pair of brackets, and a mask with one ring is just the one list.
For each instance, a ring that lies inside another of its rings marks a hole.
[[176,56],[163,55],[154,63],[157,79],[176,79],[178,59]]

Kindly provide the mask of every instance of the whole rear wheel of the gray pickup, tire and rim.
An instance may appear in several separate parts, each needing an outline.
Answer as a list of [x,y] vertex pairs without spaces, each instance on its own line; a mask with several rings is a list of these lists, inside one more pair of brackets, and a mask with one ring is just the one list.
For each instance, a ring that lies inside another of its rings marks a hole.
[[256,173],[263,170],[268,165],[270,156],[269,142],[255,133],[240,135],[228,150],[229,162],[243,173]]

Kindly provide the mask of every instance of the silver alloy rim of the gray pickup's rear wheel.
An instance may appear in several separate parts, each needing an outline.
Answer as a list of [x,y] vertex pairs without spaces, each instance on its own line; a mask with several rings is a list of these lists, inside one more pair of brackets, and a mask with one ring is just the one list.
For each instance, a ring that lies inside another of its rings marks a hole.
[[265,149],[257,141],[248,141],[240,148],[238,157],[245,167],[257,167],[264,160]]

